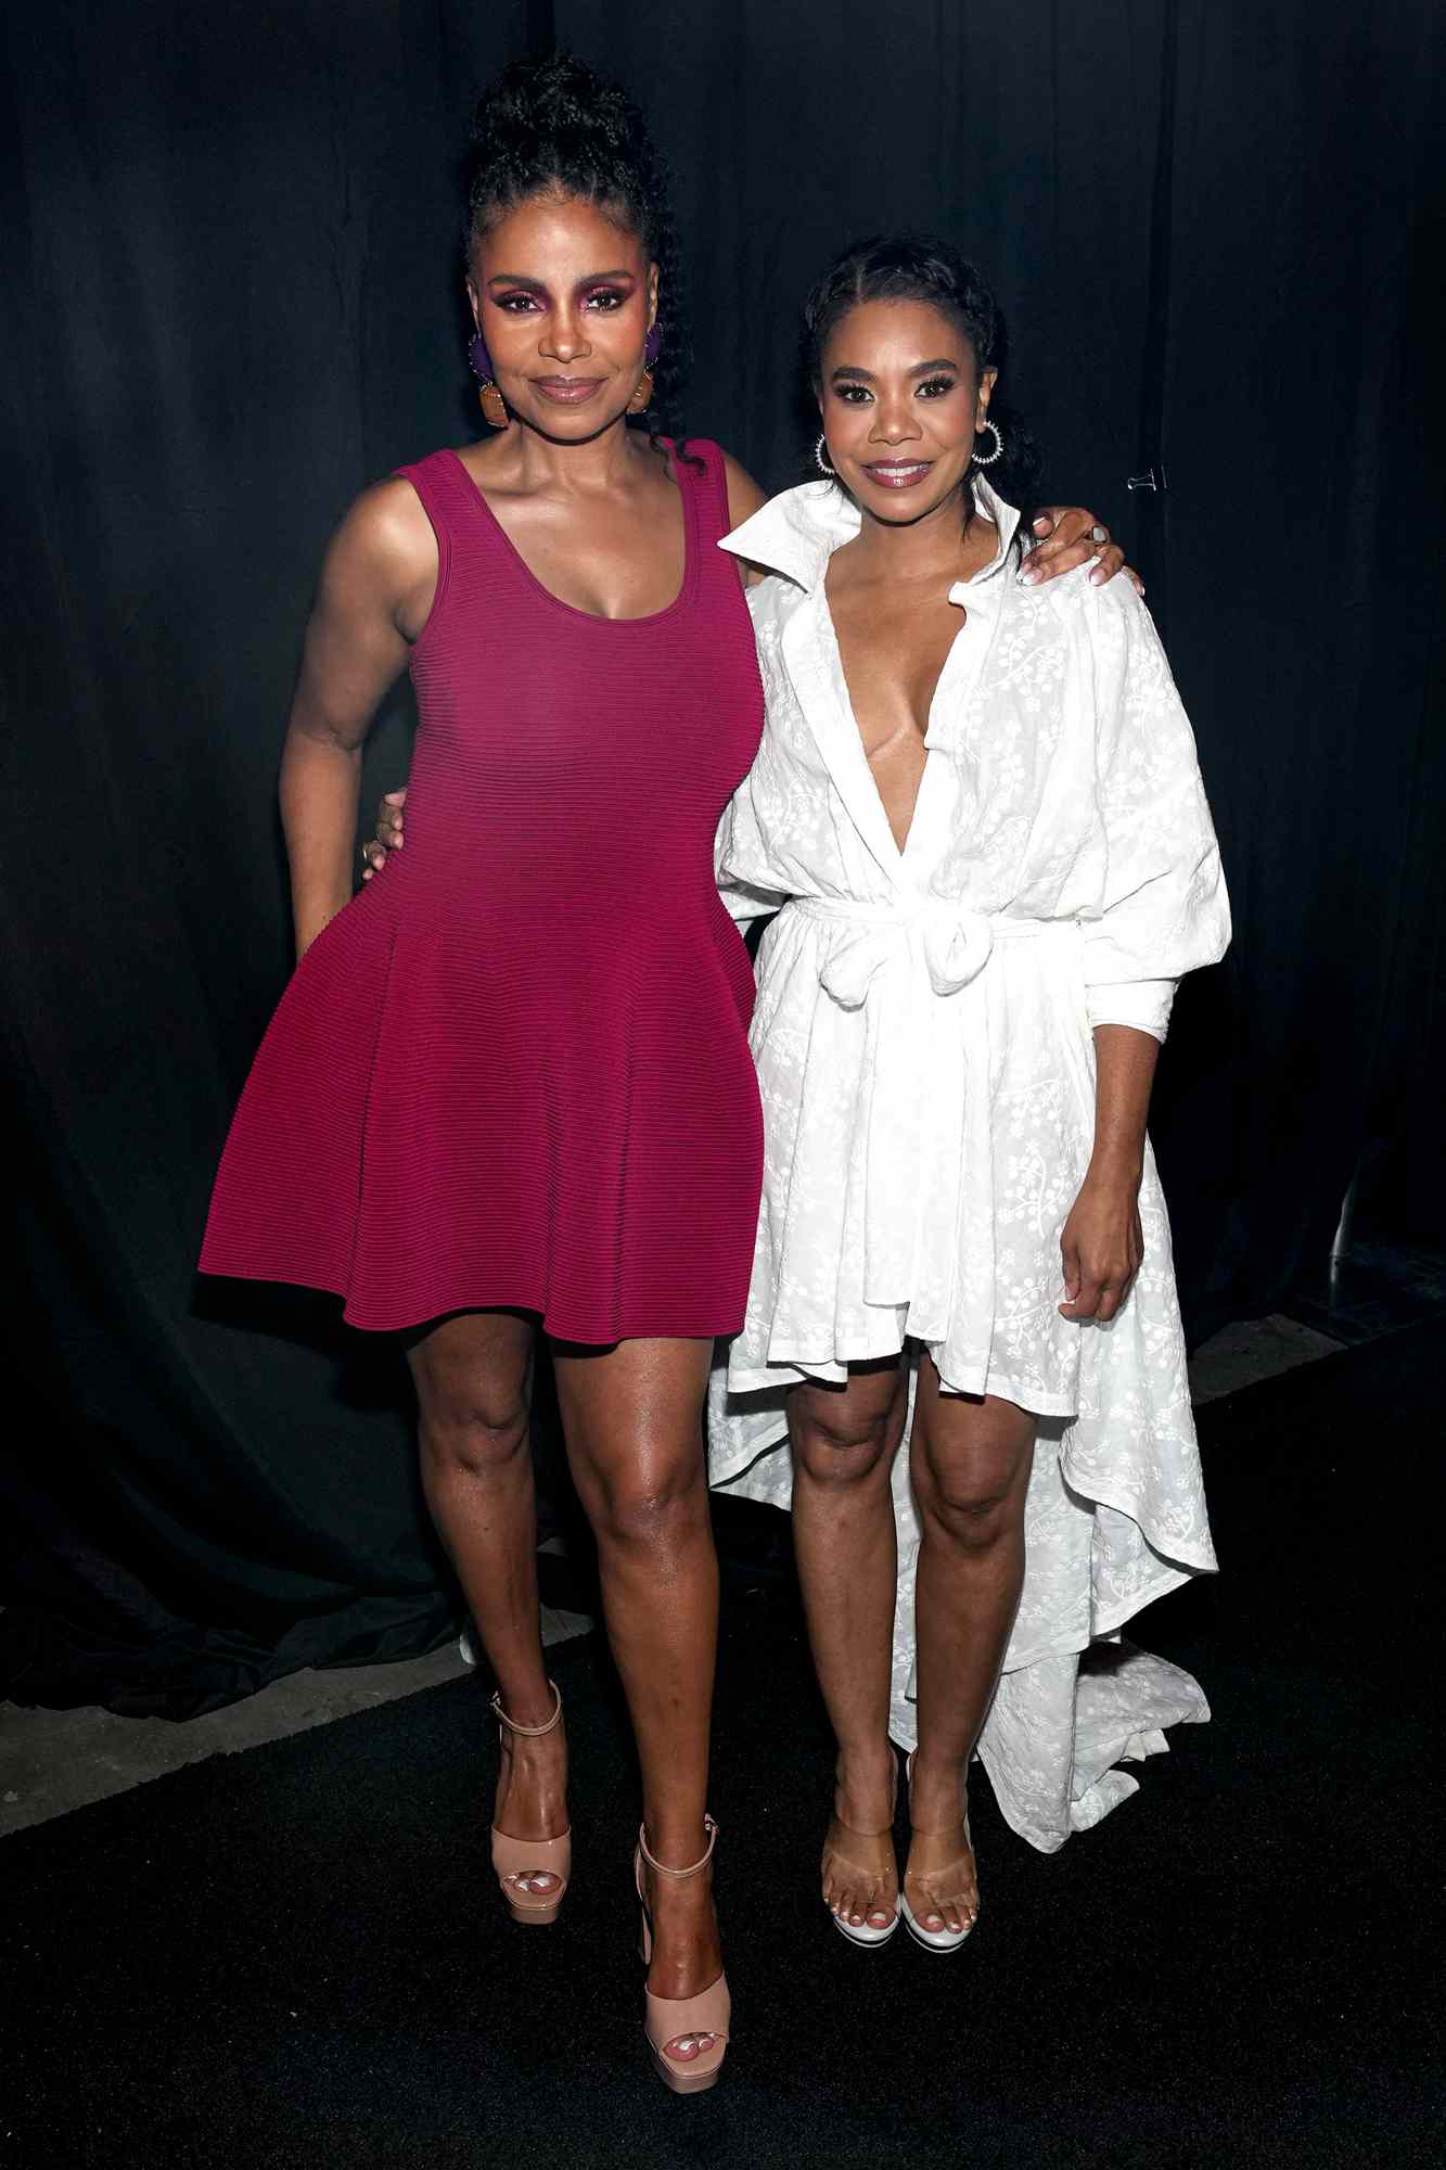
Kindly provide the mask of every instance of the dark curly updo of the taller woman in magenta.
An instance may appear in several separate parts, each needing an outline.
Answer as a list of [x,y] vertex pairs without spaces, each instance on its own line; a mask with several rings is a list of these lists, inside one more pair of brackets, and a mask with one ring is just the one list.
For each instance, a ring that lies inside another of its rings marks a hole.
[[[688,369],[682,263],[669,176],[634,102],[571,52],[512,61],[475,104],[467,156],[462,250],[508,210],[560,191],[597,204],[658,265],[658,360],[645,417],[654,443],[682,445],[675,401]],[[632,417],[630,417],[632,419]]]

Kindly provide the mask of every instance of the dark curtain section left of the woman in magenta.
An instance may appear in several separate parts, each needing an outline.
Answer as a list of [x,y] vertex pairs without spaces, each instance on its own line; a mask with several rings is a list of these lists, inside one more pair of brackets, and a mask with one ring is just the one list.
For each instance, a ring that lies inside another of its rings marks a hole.
[[[180,1714],[454,1612],[395,1348],[198,1289],[195,1250],[291,963],[276,764],[319,553],[471,430],[456,167],[525,9],[61,0],[7,35],[0,1632],[20,1697]],[[406,733],[397,699],[369,792]]]

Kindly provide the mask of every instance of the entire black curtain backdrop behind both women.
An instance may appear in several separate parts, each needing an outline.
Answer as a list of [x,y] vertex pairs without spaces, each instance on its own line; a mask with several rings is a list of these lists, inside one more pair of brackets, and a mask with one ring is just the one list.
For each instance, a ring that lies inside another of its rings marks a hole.
[[[862,0],[4,26],[15,1697],[180,1716],[456,1610],[395,1348],[193,1261],[291,961],[274,783],[319,553],[365,482],[475,434],[465,117],[551,37],[673,163],[693,430],[797,480],[806,284],[862,230],[944,228],[1010,308],[1049,490],[1144,571],[1238,914],[1155,1120],[1196,1337],[1324,1256],[1361,1163],[1379,1228],[1439,1230],[1431,0],[934,0],[886,39]],[[369,799],[408,723],[399,697]]]

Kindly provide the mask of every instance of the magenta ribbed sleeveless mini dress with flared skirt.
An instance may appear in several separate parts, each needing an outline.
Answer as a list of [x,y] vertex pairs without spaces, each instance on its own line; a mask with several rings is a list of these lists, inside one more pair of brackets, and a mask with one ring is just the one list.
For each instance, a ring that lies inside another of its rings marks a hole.
[[313,942],[211,1202],[206,1274],[410,1328],[562,1341],[743,1324],[762,1178],[753,972],[712,842],[762,733],[716,445],[675,460],[677,599],[597,618],[528,571],[454,451],[413,651],[406,848]]

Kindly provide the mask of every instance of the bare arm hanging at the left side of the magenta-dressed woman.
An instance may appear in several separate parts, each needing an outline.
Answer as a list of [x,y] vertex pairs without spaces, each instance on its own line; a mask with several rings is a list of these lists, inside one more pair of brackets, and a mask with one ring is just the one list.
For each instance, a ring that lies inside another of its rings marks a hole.
[[326,553],[282,753],[297,957],[352,898],[363,740],[434,586],[436,540],[413,486],[365,490]]

